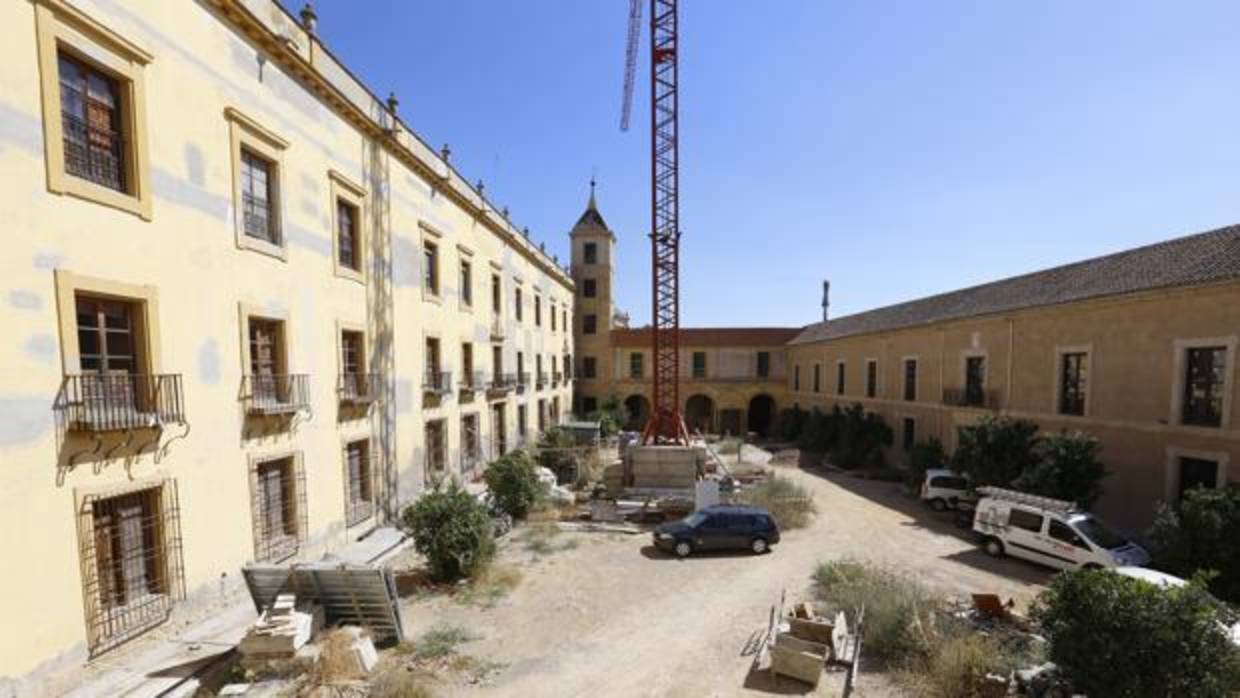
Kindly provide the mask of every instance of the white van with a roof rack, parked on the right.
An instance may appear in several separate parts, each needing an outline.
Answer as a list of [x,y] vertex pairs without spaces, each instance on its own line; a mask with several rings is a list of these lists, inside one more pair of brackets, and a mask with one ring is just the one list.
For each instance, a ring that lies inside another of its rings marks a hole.
[[973,531],[991,555],[1058,569],[1142,567],[1149,553],[1076,505],[1002,487],[978,487]]

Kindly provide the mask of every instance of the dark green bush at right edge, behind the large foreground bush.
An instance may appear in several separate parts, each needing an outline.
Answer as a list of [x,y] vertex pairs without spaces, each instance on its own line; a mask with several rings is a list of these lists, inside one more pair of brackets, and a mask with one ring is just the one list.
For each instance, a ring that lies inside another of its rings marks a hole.
[[1184,492],[1179,511],[1158,508],[1148,538],[1158,568],[1185,579],[1215,572],[1210,590],[1240,601],[1240,486]]

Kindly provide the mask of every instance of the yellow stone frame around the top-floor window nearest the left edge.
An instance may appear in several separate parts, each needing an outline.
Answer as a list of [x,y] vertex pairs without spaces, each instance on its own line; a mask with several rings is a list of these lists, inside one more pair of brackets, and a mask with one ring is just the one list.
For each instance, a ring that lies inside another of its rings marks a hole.
[[[35,31],[38,45],[47,191],[125,211],[144,221],[153,219],[145,73],[146,66],[155,57],[64,0],[35,0]],[[69,175],[64,169],[58,60],[62,50],[117,81],[122,102],[122,135],[129,143],[124,167],[130,192],[120,192]]]

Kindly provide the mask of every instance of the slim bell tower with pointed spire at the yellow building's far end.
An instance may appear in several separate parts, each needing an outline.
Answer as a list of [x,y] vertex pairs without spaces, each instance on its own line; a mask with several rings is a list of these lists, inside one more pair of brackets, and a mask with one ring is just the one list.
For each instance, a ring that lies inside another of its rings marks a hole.
[[614,368],[611,329],[615,325],[613,290],[615,279],[616,237],[599,213],[595,181],[590,179],[590,200],[585,212],[569,232],[572,241],[573,283],[577,299],[573,345],[577,351],[573,382],[573,412],[587,417],[608,398]]

